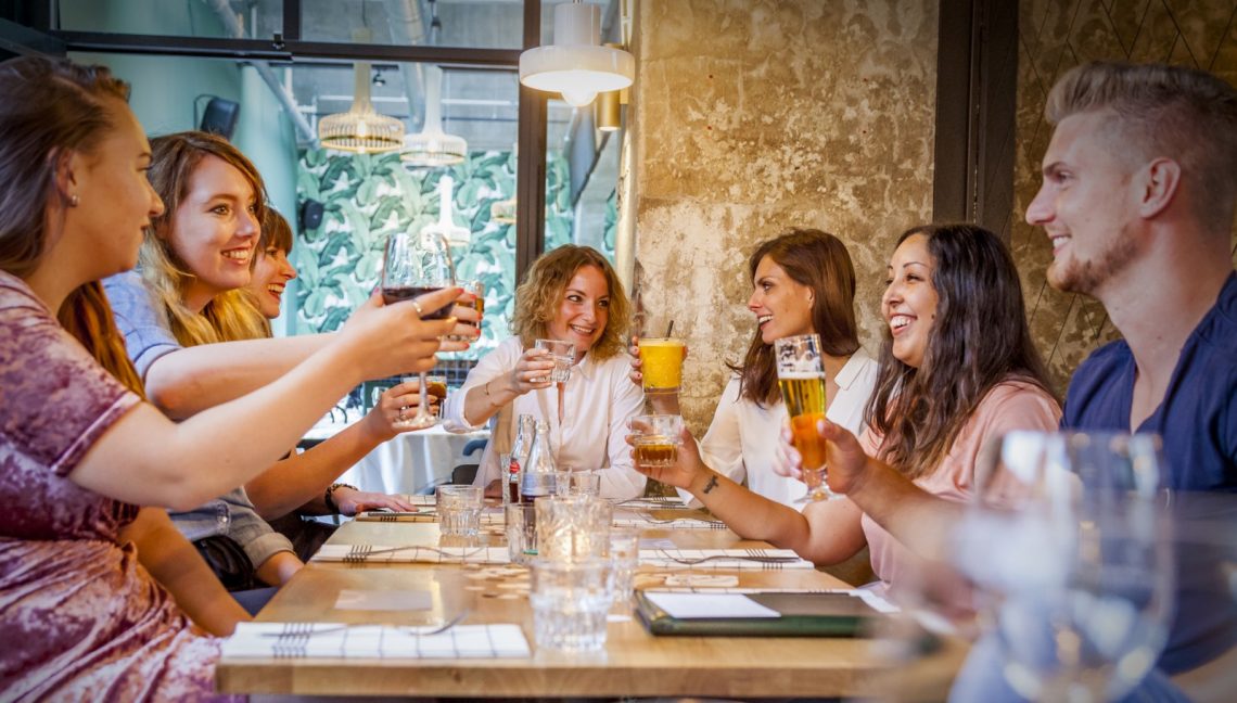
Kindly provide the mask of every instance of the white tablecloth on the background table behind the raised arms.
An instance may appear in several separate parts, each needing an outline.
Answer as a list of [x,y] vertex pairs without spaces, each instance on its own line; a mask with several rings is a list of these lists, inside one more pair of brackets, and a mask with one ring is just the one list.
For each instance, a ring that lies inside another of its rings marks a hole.
[[[343,425],[314,427],[306,438],[332,437],[344,427]],[[452,469],[458,464],[480,462],[481,452],[476,451],[464,457],[464,446],[473,439],[489,437],[487,429],[452,434],[437,425],[419,432],[404,432],[375,447],[356,465],[344,472],[339,480],[361,490],[379,493],[429,493],[435,485],[449,481]]]

